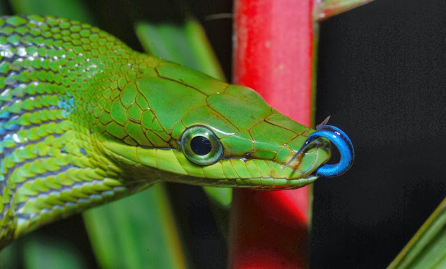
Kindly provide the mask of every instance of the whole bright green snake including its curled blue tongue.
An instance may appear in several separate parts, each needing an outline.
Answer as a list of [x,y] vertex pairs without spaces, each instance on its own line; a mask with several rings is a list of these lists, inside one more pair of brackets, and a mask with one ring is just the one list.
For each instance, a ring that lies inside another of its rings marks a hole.
[[353,146],[320,129],[89,24],[0,17],[0,247],[162,181],[286,190],[341,174]]

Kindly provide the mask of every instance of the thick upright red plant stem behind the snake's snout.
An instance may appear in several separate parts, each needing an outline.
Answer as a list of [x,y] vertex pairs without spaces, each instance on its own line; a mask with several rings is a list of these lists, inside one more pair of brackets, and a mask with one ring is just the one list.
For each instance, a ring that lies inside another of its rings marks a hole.
[[[235,0],[233,83],[312,125],[315,0]],[[307,267],[309,188],[234,190],[231,268]]]

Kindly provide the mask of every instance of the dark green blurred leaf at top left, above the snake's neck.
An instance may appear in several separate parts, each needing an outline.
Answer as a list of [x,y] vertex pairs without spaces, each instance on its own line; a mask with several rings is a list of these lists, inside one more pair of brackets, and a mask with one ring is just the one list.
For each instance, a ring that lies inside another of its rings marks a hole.
[[17,14],[38,14],[65,17],[93,23],[89,10],[80,0],[10,0]]

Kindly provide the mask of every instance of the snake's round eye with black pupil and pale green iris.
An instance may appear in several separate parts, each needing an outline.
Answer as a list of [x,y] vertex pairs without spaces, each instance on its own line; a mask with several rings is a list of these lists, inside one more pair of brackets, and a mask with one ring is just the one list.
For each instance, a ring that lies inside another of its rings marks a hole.
[[181,149],[191,162],[200,165],[210,165],[223,155],[220,139],[212,130],[195,125],[187,128],[181,136]]

